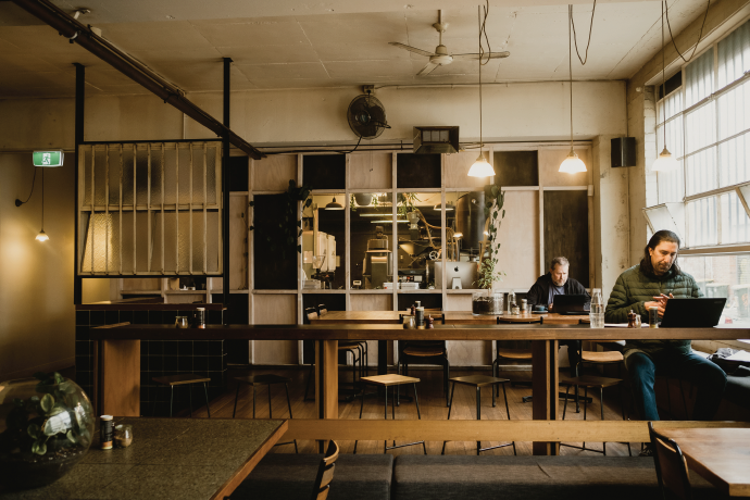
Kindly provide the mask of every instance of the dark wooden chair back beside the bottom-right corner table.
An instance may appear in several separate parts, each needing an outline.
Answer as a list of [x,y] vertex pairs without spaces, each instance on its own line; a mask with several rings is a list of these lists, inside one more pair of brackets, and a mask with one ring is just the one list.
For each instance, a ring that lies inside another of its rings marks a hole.
[[[662,495],[664,495],[664,488],[666,488],[677,498],[684,500],[692,499],[690,476],[683,450],[679,449],[674,439],[658,433],[653,428],[652,422],[649,422],[649,436],[651,437],[653,461],[657,466],[657,479],[659,479]],[[664,498],[666,498],[665,495]]]

